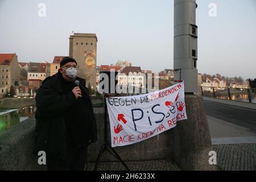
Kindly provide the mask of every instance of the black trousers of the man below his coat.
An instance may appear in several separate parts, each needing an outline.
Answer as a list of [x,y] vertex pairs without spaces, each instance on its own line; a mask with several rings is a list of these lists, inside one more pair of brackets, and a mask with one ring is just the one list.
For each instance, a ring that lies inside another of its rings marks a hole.
[[88,146],[69,151],[67,159],[47,158],[48,171],[84,171]]

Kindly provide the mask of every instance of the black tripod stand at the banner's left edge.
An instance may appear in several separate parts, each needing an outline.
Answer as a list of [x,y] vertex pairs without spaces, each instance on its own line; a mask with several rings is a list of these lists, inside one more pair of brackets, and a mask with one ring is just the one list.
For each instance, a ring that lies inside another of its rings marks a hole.
[[96,165],[94,167],[94,171],[97,170],[98,168],[98,164],[100,163],[101,160],[101,156],[105,151],[108,151],[110,154],[112,154],[115,158],[117,158],[122,164],[123,166],[126,168],[127,171],[130,171],[130,169],[126,166],[125,162],[123,162],[123,160],[121,159],[121,157],[117,154],[117,152],[114,150],[114,148],[112,148],[109,144],[109,140],[108,140],[108,108],[106,105],[106,98],[108,98],[109,95],[108,94],[104,94],[104,144],[101,147],[100,153],[98,154],[97,160],[96,160]]

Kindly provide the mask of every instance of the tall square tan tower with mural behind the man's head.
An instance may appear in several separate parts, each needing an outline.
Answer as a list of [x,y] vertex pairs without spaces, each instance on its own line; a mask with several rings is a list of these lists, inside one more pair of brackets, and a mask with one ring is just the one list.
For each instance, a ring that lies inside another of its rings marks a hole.
[[69,37],[69,56],[79,65],[77,76],[93,89],[96,89],[97,41],[96,34],[75,33]]

